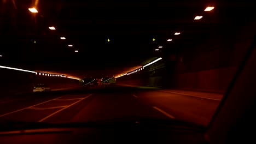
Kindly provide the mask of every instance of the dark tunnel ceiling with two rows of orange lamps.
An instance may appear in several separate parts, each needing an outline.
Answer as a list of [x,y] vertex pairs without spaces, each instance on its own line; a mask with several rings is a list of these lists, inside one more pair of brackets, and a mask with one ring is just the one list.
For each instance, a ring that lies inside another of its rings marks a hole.
[[[222,32],[238,7],[202,0],[0,2],[2,65],[82,78],[118,75],[172,50],[193,49]],[[204,11],[208,6],[216,8]]]

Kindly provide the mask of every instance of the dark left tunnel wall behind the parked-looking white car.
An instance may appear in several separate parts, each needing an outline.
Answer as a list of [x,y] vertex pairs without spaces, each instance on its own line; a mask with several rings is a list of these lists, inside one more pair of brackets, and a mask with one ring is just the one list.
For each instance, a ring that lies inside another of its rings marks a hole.
[[0,68],[0,97],[7,94],[33,92],[33,87],[39,83],[47,84],[51,89],[61,89],[79,86],[79,81],[65,77],[37,76],[25,71]]

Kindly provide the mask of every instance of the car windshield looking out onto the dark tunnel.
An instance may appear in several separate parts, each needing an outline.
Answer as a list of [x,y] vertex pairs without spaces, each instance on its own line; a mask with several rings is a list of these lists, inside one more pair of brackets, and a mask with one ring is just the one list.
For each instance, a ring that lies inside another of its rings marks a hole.
[[1,3],[2,124],[206,128],[255,34],[254,8],[243,2]]

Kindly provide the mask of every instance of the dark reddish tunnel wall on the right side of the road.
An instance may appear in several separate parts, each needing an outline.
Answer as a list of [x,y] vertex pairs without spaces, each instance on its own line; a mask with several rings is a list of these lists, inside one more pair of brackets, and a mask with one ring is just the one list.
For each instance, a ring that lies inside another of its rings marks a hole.
[[[162,64],[123,76],[117,83],[224,93],[253,43],[256,24],[249,23],[230,34],[214,35],[202,44],[171,51]],[[155,69],[155,70],[152,70]]]

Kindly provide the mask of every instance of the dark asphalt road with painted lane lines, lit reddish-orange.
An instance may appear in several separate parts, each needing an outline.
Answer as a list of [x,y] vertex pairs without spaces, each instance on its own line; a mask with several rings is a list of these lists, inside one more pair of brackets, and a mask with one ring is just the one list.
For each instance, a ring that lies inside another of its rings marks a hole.
[[220,101],[112,85],[27,94],[0,101],[0,123],[86,123],[113,119],[178,119],[206,126]]

